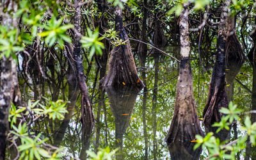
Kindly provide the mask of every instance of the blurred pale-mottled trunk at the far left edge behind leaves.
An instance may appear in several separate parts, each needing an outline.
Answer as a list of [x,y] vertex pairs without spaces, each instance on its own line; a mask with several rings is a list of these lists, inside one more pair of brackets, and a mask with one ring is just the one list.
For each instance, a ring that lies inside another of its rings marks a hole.
[[[0,6],[0,10],[3,7],[6,7],[6,12],[2,15],[3,26],[17,28],[17,19],[9,14],[10,10],[13,10],[13,12],[17,11],[17,4],[15,1],[8,1],[3,6]],[[6,136],[9,131],[8,116],[11,102],[15,105],[21,105],[22,101],[15,60],[11,56],[9,58],[3,56],[0,67],[0,160],[2,160],[5,158]]]

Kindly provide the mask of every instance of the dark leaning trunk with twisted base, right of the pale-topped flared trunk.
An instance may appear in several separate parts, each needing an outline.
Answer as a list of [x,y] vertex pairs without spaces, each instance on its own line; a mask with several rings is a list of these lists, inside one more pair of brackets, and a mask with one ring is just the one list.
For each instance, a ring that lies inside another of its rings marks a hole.
[[[221,20],[218,33],[218,49],[216,61],[212,71],[212,79],[209,87],[209,95],[204,108],[204,124],[207,131],[215,132],[216,128],[211,127],[214,122],[220,122],[221,107],[227,107],[227,93],[225,92],[225,44],[226,44],[226,23],[228,6],[230,0],[223,1]],[[227,137],[228,131],[220,133],[221,140]]]

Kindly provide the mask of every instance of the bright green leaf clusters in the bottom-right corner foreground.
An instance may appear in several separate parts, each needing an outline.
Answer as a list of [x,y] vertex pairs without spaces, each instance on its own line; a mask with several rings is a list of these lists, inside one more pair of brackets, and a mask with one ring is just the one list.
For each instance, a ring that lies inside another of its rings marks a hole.
[[[232,102],[228,104],[227,108],[221,108],[221,113],[226,114],[221,118],[221,122],[216,122],[213,127],[218,127],[216,132],[220,132],[222,129],[229,130],[229,125],[234,120],[239,121],[240,109]],[[207,148],[209,152],[209,159],[236,159],[236,154],[246,148],[246,140],[250,140],[252,145],[256,145],[256,122],[252,124],[250,117],[246,116],[244,120],[243,130],[246,132],[245,135],[241,135],[237,140],[234,140],[228,144],[225,141],[221,142],[219,138],[214,136],[213,132],[208,132],[205,137],[196,135],[196,145],[194,149],[198,147]]]

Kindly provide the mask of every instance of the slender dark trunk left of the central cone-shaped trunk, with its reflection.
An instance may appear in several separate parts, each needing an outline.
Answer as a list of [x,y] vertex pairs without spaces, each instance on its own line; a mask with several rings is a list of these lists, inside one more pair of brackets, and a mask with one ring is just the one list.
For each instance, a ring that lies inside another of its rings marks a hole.
[[83,61],[81,55],[81,43],[80,34],[81,34],[81,0],[75,0],[75,15],[74,15],[74,26],[76,31],[74,32],[74,62],[76,65],[76,75],[79,84],[79,88],[82,94],[81,98],[81,122],[82,122],[82,150],[80,152],[80,158],[86,159],[86,150],[90,144],[90,136],[92,134],[94,118],[92,112],[92,105],[89,99],[88,88],[85,83],[84,70],[83,70]]

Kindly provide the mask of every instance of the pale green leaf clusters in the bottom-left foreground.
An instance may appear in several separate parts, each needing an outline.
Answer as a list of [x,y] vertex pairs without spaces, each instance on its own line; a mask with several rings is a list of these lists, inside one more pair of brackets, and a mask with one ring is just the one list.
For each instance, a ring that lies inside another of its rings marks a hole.
[[[40,106],[41,108],[38,108]],[[35,135],[35,132],[29,132],[28,122],[24,121],[29,118],[31,113],[36,113],[36,120],[40,116],[49,116],[49,118],[61,120],[63,113],[67,113],[65,109],[66,103],[62,100],[56,102],[49,101],[49,106],[39,104],[39,100],[36,102],[28,101],[28,107],[19,107],[12,104],[10,108],[9,121],[11,122],[11,128],[9,139],[12,143],[20,140],[20,145],[17,146],[17,150],[20,153],[19,159],[61,159],[61,148],[52,147],[47,145],[49,138],[42,138],[42,134]],[[19,120],[19,125],[16,125]],[[31,123],[31,122],[29,122]],[[16,146],[16,145],[15,145]],[[51,150],[53,150],[51,154]]]

